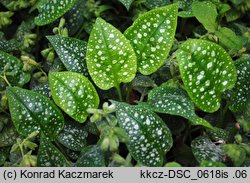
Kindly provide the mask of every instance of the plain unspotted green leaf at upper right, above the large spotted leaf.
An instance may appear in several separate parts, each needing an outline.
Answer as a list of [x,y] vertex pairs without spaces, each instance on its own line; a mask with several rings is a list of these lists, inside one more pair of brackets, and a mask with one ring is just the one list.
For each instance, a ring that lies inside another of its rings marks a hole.
[[244,46],[244,41],[241,37],[237,36],[234,31],[229,28],[222,27],[215,32],[219,38],[221,46],[229,49],[240,50]]

